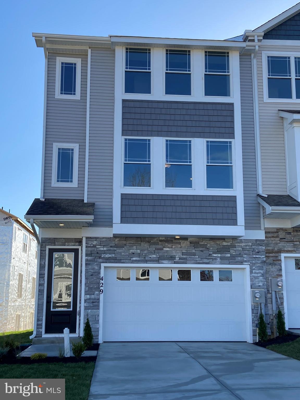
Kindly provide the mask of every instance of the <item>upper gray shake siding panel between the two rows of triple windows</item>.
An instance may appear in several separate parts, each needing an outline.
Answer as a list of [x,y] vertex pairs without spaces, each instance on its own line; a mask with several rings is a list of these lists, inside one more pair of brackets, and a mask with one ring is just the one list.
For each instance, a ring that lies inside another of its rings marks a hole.
[[122,135],[233,139],[234,106],[123,100]]

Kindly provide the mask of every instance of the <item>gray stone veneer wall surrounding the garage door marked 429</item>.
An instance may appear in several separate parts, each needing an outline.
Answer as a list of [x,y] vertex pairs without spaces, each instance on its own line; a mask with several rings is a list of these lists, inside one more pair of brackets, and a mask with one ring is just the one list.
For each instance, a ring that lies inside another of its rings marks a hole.
[[[264,240],[210,238],[86,238],[85,318],[98,339],[100,264],[245,264],[250,263],[251,288],[266,290]],[[266,313],[268,312],[266,308]],[[258,305],[252,304],[256,340]],[[270,332],[269,332],[270,333]]]

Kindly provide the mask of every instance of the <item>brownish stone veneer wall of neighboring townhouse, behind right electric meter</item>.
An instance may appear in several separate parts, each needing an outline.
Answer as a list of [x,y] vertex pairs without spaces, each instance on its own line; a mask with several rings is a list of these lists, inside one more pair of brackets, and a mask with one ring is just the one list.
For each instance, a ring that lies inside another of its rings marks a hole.
[[[281,253],[300,253],[300,228],[265,228],[266,240],[266,278],[268,288],[268,306],[272,309],[272,296],[270,293],[269,278],[281,278]],[[281,310],[286,312],[283,306],[283,294],[278,292],[282,303]],[[273,316],[270,315],[272,324]]]

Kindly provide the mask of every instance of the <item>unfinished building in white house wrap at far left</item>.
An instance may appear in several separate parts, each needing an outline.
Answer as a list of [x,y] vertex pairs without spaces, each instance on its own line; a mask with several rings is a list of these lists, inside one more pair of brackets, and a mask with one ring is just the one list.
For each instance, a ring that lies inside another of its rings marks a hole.
[[0,209],[0,332],[33,329],[37,258],[34,232]]

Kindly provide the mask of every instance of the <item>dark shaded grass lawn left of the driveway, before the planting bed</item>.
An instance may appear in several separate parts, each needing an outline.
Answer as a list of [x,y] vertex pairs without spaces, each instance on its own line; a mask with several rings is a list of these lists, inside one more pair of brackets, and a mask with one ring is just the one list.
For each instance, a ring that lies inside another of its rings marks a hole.
[[0,364],[0,378],[61,378],[66,380],[66,400],[86,400],[94,362],[14,365]]

